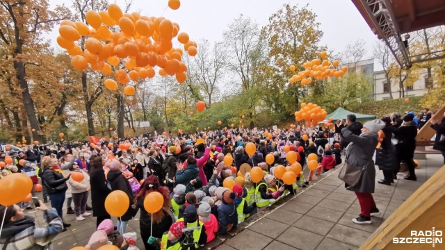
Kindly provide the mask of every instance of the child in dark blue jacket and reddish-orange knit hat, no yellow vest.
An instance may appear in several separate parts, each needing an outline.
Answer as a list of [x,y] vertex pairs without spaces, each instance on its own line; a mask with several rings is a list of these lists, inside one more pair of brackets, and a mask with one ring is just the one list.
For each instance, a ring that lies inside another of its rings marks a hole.
[[238,213],[234,203],[235,198],[235,194],[230,192],[230,190],[223,192],[223,204],[218,207],[218,222],[220,222],[218,235],[223,235],[238,225]]

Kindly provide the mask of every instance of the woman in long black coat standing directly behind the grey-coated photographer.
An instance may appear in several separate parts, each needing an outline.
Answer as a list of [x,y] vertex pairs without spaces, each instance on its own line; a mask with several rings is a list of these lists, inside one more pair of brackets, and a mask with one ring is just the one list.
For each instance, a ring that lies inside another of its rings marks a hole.
[[391,185],[391,183],[394,183],[393,173],[398,170],[396,150],[391,142],[393,126],[390,117],[383,117],[382,121],[385,122],[385,128],[382,129],[385,138],[380,142],[380,149],[377,151],[375,162],[384,176],[378,183]]

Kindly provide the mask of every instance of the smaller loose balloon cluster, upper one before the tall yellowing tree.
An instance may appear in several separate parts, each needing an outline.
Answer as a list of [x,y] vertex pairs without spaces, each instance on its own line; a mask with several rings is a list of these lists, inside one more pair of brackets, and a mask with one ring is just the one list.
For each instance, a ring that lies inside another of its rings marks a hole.
[[[332,62],[330,60],[327,60],[326,51],[321,52],[320,56],[321,59],[316,58],[312,61],[303,63],[303,67],[305,68],[305,70],[294,74],[289,79],[289,83],[293,84],[299,81],[300,84],[304,87],[305,85],[312,83],[313,80],[323,80],[332,76],[341,78],[346,72],[348,72],[348,67],[346,66],[338,69],[340,64],[338,60],[334,60]],[[289,67],[289,70],[294,72],[296,70],[295,65],[291,65]]]

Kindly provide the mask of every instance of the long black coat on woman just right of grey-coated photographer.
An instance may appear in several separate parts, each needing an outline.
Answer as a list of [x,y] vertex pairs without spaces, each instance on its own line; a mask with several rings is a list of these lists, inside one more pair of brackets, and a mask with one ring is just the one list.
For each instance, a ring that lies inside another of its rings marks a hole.
[[380,149],[377,151],[377,156],[375,156],[375,163],[381,170],[397,170],[396,149],[391,142],[393,126],[389,124],[382,131],[385,134],[385,138],[380,142]]

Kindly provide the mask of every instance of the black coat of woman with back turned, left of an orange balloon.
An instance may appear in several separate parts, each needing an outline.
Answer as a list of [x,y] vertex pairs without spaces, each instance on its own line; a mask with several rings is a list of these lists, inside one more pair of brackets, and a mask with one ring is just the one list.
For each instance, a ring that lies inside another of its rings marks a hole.
[[102,217],[108,215],[105,210],[105,199],[111,192],[106,185],[106,178],[102,169],[90,172],[92,216]]

